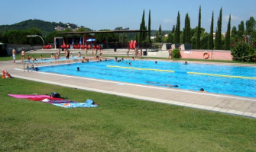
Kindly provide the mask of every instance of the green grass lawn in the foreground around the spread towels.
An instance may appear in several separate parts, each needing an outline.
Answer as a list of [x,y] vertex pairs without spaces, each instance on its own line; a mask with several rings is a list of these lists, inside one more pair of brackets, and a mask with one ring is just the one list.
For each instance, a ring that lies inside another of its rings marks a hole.
[[[8,97],[92,99],[65,109]],[[256,119],[25,81],[0,80],[0,151],[256,151]]]

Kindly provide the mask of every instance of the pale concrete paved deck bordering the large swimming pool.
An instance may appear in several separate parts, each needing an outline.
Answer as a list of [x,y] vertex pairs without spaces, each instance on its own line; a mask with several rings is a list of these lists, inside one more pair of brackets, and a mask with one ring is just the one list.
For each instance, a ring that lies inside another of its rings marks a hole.
[[[167,61],[167,60],[163,60]],[[72,63],[73,61],[38,63],[44,65],[57,65]],[[198,62],[202,63],[202,62]],[[241,65],[225,63],[209,63],[218,65]],[[253,66],[256,65],[242,65]],[[130,84],[117,81],[105,81],[95,78],[81,78],[62,74],[49,74],[40,71],[24,71],[24,65],[14,64],[12,61],[0,62],[0,67],[8,71],[14,78],[38,81],[47,84],[56,84],[63,87],[73,87],[81,90],[96,91],[99,93],[115,94],[122,97],[131,97],[138,100],[148,100],[157,103],[167,103],[177,106],[186,106],[196,109],[205,109],[214,112],[256,118],[256,98],[237,97],[225,94],[181,90],[167,87],[156,87],[142,84]]]

